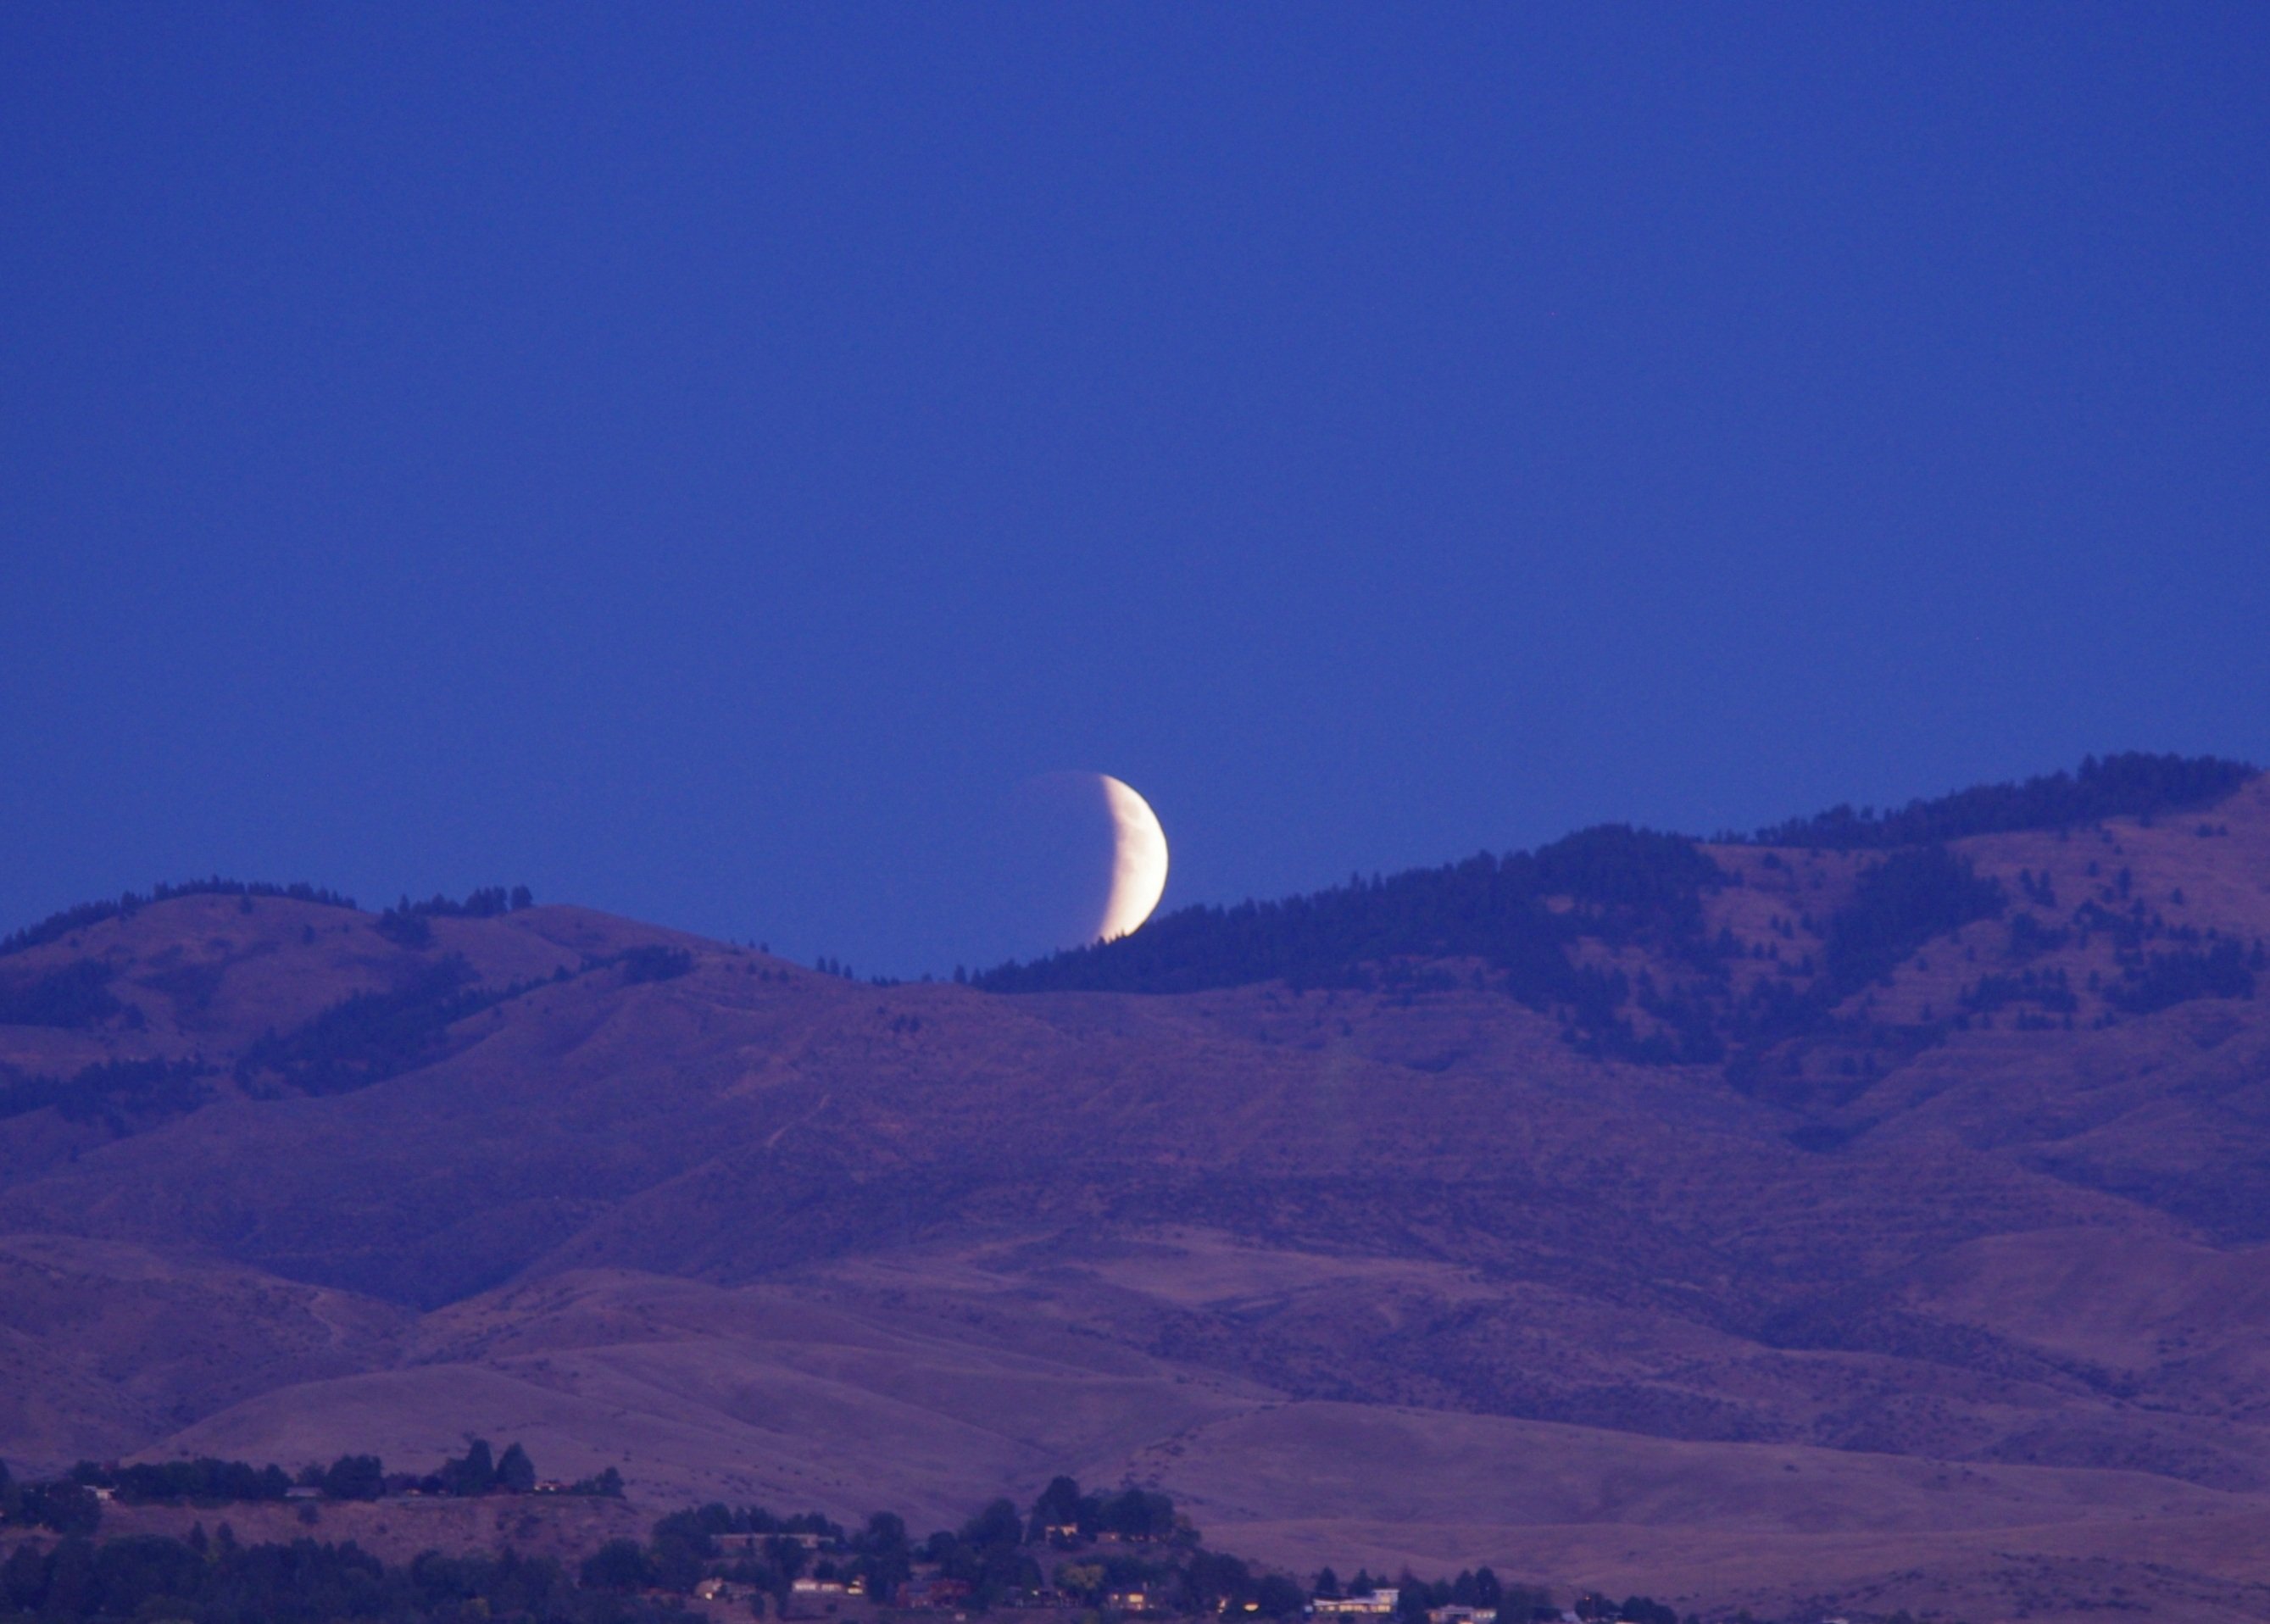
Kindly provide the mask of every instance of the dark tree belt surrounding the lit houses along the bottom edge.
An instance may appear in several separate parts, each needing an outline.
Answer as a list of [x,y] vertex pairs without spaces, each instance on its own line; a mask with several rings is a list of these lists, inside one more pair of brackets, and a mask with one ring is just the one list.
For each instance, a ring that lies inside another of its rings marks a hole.
[[[484,1454],[486,1447],[468,1449],[434,1476],[470,1488],[484,1481]],[[518,1467],[506,1467],[511,1454],[486,1463],[493,1483],[520,1476]],[[375,1467],[370,1456],[343,1456],[322,1476],[340,1481],[347,1492],[338,1497],[356,1499],[372,1481],[384,1481]],[[170,1463],[152,1470],[157,1476],[129,1472],[136,1467],[111,1472],[107,1488],[148,1499],[202,1499],[200,1490],[266,1499],[281,1476],[275,1467],[254,1472],[241,1463]],[[91,1485],[64,1483],[91,1497]],[[23,1499],[27,1490],[16,1495]],[[1083,1492],[1067,1476],[1051,1481],[1026,1510],[997,1499],[960,1529],[922,1540],[894,1513],[876,1513],[849,1531],[819,1513],[776,1517],[758,1506],[695,1506],[658,1520],[645,1542],[608,1540],[574,1569],[513,1551],[427,1551],[409,1563],[384,1563],[352,1542],[241,1545],[227,1522],[211,1538],[202,1522],[179,1540],[95,1542],[89,1533],[91,1524],[66,1531],[54,1545],[18,1542],[0,1563],[0,1617],[647,1624],[683,1619],[683,1599],[692,1594],[740,1601],[754,1617],[788,1617],[806,1597],[826,1613],[842,1606],[835,1599],[865,1597],[878,1606],[956,1613],[1058,1608],[1289,1619],[1319,1604],[1330,1610],[1342,1597],[1364,1597],[1385,1606],[1396,1624],[1559,1617],[1544,1588],[1505,1583],[1489,1567],[1441,1579],[1357,1572],[1346,1581],[1330,1567],[1310,1579],[1255,1569],[1210,1551],[1167,1495]],[[1584,1619],[1680,1624],[1668,1606],[1648,1597],[1580,1594],[1573,1606]]]

